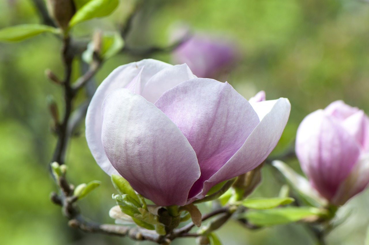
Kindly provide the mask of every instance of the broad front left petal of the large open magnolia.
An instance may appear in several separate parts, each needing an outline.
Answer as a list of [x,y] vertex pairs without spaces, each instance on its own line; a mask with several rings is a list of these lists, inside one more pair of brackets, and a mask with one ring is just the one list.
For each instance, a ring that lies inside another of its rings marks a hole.
[[200,176],[196,153],[158,108],[127,89],[103,103],[101,140],[115,169],[159,206],[183,205]]

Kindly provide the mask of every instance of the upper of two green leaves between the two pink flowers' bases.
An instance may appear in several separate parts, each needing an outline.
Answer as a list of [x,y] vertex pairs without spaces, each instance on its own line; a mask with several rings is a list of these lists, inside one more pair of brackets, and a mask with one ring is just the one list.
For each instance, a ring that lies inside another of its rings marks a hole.
[[294,201],[291,197],[273,198],[249,198],[242,201],[242,206],[250,209],[272,209],[280,205],[286,205]]

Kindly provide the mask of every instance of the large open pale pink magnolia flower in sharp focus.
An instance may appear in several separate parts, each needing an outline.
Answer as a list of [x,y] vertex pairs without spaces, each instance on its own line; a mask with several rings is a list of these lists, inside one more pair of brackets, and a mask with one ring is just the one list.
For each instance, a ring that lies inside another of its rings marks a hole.
[[158,206],[182,206],[261,164],[289,112],[286,98],[251,105],[227,82],[148,59],[118,67],[97,88],[86,139],[107,174]]

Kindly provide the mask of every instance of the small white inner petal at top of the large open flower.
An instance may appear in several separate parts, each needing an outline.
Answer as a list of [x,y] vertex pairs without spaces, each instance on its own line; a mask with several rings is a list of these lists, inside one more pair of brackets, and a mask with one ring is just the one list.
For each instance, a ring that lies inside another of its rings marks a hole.
[[186,64],[170,66],[159,71],[147,81],[142,91],[142,96],[147,99],[147,101],[155,103],[163,92],[183,81],[193,78],[196,78],[196,76]]

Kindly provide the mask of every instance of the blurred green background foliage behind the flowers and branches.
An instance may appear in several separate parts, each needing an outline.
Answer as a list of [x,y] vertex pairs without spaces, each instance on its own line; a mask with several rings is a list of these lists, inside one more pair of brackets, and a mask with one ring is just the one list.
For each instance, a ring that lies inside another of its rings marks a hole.
[[[89,39],[95,28],[117,30],[133,4],[133,0],[121,0],[111,16],[79,24],[73,34]],[[31,0],[0,1],[0,17],[0,28],[40,22]],[[369,112],[369,3],[365,0],[146,0],[134,18],[126,45],[165,47],[178,24],[235,43],[239,59],[218,79],[227,80],[245,98],[265,90],[267,99],[290,99],[290,119],[274,155],[293,145],[304,116],[332,101],[343,99]],[[0,244],[138,244],[128,238],[74,230],[49,200],[49,193],[56,190],[48,172],[56,140],[50,130],[46,96],[53,95],[62,109],[62,91],[46,79],[44,71],[51,69],[62,76],[60,49],[61,42],[51,34],[0,43]],[[149,57],[172,62],[168,52]],[[142,58],[126,53],[114,56],[97,73],[96,86],[115,67]],[[75,70],[79,66],[76,60]],[[73,76],[77,78],[78,72]],[[76,105],[85,98],[82,91]],[[70,181],[102,182],[79,202],[83,214],[113,223],[108,210],[115,204],[111,194],[116,191],[89,152],[83,122],[77,134],[66,158]],[[300,171],[296,160],[288,163]],[[276,196],[280,188],[277,175],[272,167],[264,167],[263,182],[252,196]],[[346,220],[327,236],[327,244],[363,244],[368,204],[368,191],[346,203],[336,222]],[[250,231],[230,222],[217,234],[231,245],[316,242],[299,223]],[[173,244],[194,244],[194,239],[178,239]]]

